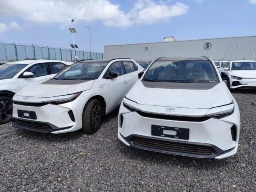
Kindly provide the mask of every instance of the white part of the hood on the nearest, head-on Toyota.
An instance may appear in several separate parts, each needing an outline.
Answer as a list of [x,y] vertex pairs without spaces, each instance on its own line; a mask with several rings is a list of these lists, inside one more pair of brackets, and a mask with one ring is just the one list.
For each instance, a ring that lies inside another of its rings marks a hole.
[[210,89],[158,88],[157,83],[155,85],[156,88],[149,88],[145,87],[142,81],[137,81],[127,93],[126,97],[140,105],[198,109],[210,109],[227,105],[233,99],[233,96],[223,81]]

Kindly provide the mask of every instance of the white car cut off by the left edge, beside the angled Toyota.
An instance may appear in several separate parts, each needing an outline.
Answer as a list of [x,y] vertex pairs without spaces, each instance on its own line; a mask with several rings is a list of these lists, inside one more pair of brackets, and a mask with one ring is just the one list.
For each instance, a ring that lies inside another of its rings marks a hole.
[[26,60],[0,66],[0,124],[12,120],[12,97],[27,85],[50,79],[71,62],[58,60]]

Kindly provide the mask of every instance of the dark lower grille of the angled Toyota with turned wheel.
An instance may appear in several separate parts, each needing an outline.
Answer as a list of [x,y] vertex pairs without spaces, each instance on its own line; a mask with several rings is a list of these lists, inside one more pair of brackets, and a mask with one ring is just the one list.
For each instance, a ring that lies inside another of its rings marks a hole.
[[20,119],[14,119],[13,123],[20,128],[24,128],[31,131],[38,131],[43,133],[50,133],[52,132],[52,128],[50,125],[41,122],[31,122],[31,121],[24,121]]

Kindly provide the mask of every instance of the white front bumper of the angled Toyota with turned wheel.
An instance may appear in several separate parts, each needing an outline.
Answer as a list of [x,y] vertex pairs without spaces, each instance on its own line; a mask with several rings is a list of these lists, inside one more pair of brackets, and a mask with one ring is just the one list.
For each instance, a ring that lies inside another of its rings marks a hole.
[[[81,114],[84,106],[81,103],[84,103],[84,97],[61,105],[26,106],[22,105],[22,102],[14,102],[12,125],[16,128],[53,134],[76,131],[82,127]],[[23,118],[18,115],[17,110],[33,111],[36,119]]]

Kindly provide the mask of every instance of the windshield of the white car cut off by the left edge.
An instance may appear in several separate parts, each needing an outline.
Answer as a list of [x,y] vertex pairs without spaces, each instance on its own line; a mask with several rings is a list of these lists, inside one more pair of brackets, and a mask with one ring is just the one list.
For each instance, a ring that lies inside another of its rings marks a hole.
[[0,79],[11,79],[26,66],[26,64],[3,64],[0,66]]

